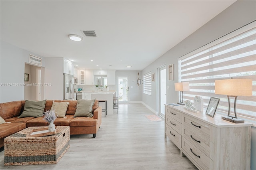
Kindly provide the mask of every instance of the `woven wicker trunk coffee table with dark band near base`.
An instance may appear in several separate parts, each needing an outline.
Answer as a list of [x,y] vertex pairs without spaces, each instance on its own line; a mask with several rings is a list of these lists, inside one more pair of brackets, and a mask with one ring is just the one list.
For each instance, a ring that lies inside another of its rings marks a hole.
[[4,138],[4,165],[56,164],[70,146],[69,126],[58,126],[56,134],[26,137],[33,129],[28,127]]

